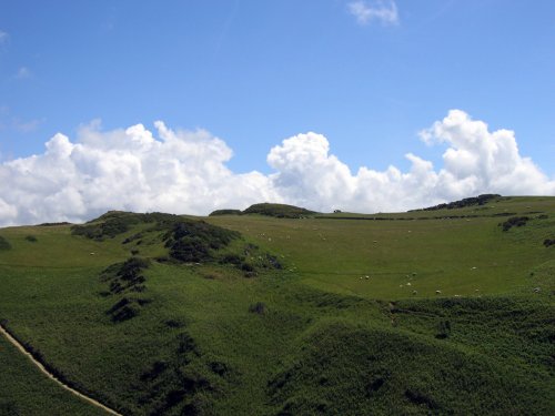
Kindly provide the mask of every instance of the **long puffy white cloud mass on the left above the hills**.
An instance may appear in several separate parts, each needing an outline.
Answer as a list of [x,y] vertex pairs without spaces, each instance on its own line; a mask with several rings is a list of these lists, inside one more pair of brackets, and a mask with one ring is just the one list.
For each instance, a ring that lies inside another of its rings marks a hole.
[[232,151],[222,140],[155,126],[159,139],[142,124],[102,132],[93,122],[74,143],[58,133],[43,154],[0,164],[0,224],[81,221],[109,209],[202,214],[279,197],[268,176],[225,166]]

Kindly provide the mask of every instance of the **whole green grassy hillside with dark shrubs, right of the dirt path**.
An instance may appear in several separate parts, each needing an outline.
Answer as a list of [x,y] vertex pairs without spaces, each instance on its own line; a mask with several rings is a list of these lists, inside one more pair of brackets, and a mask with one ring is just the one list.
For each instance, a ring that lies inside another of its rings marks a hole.
[[204,221],[0,230],[0,319],[129,415],[555,412],[554,197]]

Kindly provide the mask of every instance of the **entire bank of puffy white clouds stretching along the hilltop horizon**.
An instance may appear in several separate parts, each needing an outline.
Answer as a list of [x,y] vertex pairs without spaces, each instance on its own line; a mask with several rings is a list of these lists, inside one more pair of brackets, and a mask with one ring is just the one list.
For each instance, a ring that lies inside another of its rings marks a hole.
[[154,123],[101,131],[83,126],[77,141],[58,133],[46,152],[0,164],[0,225],[80,222],[109,210],[205,215],[281,202],[316,211],[403,211],[480,193],[554,195],[547,177],[518,152],[514,132],[451,110],[422,131],[426,143],[446,144],[443,168],[412,153],[407,172],[360,168],[330,153],[327,139],[309,132],[270,150],[274,173],[235,173],[232,150],[204,130],[173,131]]

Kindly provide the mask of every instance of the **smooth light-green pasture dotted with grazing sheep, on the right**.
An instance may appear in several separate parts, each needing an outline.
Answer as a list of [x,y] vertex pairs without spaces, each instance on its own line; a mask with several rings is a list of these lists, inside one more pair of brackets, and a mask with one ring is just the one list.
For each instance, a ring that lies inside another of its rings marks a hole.
[[[503,232],[500,224],[518,215],[531,220]],[[210,222],[281,253],[287,270],[313,287],[372,298],[428,297],[436,291],[527,293],[536,287],[533,268],[554,258],[543,245],[554,234],[553,197],[505,197],[484,206],[404,214]]]

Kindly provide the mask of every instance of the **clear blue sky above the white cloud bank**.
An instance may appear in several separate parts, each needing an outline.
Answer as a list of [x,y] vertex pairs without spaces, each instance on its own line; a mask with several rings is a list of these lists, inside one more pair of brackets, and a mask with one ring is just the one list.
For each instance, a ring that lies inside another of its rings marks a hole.
[[310,131],[353,172],[437,169],[417,133],[460,109],[555,176],[551,0],[0,0],[0,162],[138,123],[205,129],[233,172]]

